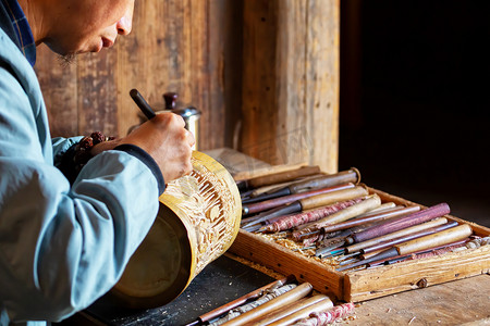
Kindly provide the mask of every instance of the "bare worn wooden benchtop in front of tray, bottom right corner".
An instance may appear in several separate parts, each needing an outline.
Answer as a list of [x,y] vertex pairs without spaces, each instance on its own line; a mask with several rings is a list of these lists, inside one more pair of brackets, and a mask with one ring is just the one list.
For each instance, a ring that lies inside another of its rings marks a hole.
[[490,325],[490,275],[363,302],[340,325]]

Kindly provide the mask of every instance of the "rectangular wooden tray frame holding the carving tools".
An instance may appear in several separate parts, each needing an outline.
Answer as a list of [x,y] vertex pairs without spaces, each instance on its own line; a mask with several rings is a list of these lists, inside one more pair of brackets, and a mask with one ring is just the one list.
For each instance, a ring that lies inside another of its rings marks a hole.
[[[377,193],[382,202],[415,204],[373,188],[368,187],[368,190]],[[490,235],[487,227],[451,215],[445,217],[468,224],[477,236]],[[309,281],[316,290],[347,302],[490,274],[490,246],[353,272],[336,272],[314,259],[242,229],[229,251],[283,275],[294,274],[298,280]]]

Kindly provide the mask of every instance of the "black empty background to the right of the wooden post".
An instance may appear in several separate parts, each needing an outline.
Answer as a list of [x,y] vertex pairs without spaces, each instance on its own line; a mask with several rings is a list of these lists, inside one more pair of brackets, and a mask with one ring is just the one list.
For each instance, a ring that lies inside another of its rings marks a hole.
[[340,170],[490,226],[488,1],[342,1]]

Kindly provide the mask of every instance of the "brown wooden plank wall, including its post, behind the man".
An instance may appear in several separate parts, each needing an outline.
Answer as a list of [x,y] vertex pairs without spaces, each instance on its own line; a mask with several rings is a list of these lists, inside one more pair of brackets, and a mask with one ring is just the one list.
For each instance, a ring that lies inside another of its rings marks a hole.
[[176,91],[179,106],[203,111],[200,150],[334,172],[339,12],[339,0],[136,1],[133,32],[112,49],[68,66],[38,50],[52,136],[122,136],[139,121],[131,88],[157,109]]

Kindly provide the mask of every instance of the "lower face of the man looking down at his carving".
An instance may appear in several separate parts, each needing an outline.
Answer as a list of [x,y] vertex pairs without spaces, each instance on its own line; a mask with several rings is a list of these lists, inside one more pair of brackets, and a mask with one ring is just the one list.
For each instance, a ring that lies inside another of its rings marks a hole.
[[20,0],[36,45],[61,55],[98,52],[132,29],[135,0]]

